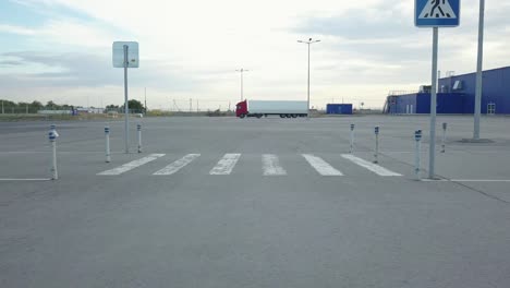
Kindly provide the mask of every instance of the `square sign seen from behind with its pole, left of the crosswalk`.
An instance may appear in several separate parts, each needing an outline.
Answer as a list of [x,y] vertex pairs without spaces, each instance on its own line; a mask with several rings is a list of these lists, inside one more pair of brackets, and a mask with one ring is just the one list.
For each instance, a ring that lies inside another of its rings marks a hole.
[[138,68],[138,43],[114,41],[113,43],[113,67],[124,69],[124,145],[125,153],[130,153],[129,132],[129,97],[127,97],[127,68]]

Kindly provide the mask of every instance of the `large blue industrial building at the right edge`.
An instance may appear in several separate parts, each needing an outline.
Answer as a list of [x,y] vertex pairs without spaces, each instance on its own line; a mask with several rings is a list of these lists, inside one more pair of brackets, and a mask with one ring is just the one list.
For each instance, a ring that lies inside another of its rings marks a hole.
[[[439,80],[438,113],[474,113],[476,73]],[[387,113],[429,113],[430,93],[388,96]],[[483,73],[482,113],[510,115],[510,67]]]

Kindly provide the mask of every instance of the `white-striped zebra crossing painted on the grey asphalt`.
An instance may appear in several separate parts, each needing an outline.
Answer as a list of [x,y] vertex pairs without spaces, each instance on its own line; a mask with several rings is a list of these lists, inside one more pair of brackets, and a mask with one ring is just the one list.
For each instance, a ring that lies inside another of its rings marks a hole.
[[[120,176],[132,171],[134,169],[141,168],[144,165],[156,161],[166,156],[166,154],[150,154],[146,157],[123,164],[119,167],[98,172],[97,176]],[[202,155],[201,154],[187,154],[182,158],[170,163],[169,165],[160,168],[159,170],[151,171],[153,176],[172,176],[180,172],[186,166],[192,166]],[[402,177],[401,173],[391,171],[385,167],[373,164],[363,159],[361,157],[354,156],[352,154],[341,154],[342,159],[347,160],[350,165],[361,167],[364,170],[367,170],[369,173],[379,176],[379,177]],[[303,164],[308,164],[308,166],[315,170],[318,176],[324,177],[342,177],[345,176],[338,167],[333,167],[328,161],[323,158],[313,155],[313,154],[301,154],[300,158],[304,159]],[[208,175],[210,176],[228,176],[231,175],[235,169],[238,163],[242,158],[242,154],[224,154],[209,170]],[[280,158],[275,154],[263,154],[262,155],[262,175],[271,177],[271,176],[287,176],[288,171],[281,165]],[[253,165],[253,161],[250,163]],[[344,164],[342,164],[344,165]],[[338,166],[338,165],[337,165]],[[196,166],[195,166],[196,168]],[[184,172],[184,171],[183,171]]]

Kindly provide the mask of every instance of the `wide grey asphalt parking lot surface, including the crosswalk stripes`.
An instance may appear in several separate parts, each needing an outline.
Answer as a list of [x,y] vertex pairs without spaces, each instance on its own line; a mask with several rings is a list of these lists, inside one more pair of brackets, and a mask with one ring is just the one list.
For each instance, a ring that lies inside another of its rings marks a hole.
[[442,122],[437,181],[427,117],[57,122],[57,181],[50,123],[0,123],[0,287],[509,287],[510,118]]

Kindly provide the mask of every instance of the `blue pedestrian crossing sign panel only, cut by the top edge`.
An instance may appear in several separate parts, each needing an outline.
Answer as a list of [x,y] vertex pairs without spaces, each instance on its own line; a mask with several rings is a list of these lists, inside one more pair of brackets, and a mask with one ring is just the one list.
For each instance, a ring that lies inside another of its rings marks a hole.
[[460,24],[460,0],[415,0],[417,27],[456,27]]

